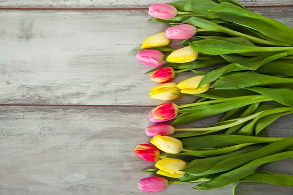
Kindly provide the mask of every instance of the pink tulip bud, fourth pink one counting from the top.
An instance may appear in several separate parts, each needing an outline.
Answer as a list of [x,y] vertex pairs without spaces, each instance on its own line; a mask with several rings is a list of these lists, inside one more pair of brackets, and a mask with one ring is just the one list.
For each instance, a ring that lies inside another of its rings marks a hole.
[[146,136],[154,137],[156,135],[169,136],[174,134],[175,128],[169,124],[156,124],[146,127]]

